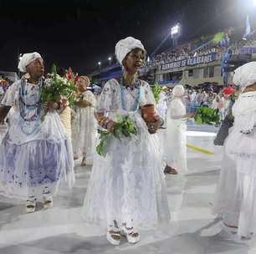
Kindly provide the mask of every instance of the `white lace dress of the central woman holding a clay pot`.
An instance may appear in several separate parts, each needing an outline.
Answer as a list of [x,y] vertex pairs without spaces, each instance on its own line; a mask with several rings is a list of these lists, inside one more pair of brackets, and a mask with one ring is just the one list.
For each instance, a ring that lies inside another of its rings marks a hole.
[[86,221],[104,228],[113,225],[113,221],[118,226],[126,223],[128,227],[150,227],[170,220],[157,135],[149,134],[137,101],[140,105],[155,104],[149,84],[121,89],[111,79],[96,108],[113,120],[129,115],[138,130],[132,139],[111,138],[106,157],[95,155],[83,214]]

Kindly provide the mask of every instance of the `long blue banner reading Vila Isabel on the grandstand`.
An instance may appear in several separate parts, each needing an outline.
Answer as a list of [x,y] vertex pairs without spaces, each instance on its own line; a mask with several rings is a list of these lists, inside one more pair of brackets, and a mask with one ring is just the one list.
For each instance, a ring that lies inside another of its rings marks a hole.
[[207,64],[215,61],[217,58],[217,53],[208,53],[206,55],[186,58],[180,61],[171,62],[168,64],[161,64],[161,70],[175,69],[186,66],[193,66],[197,64]]

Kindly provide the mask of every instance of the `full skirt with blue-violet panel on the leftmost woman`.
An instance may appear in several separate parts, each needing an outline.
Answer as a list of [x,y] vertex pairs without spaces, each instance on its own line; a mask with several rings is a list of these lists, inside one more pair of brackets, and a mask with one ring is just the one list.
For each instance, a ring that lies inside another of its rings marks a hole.
[[[11,124],[14,124],[13,121]],[[54,196],[62,181],[74,184],[71,141],[59,115],[49,113],[35,140],[15,144],[7,133],[0,145],[0,195],[21,200]],[[18,126],[16,126],[18,128]],[[15,130],[15,126],[11,127]],[[44,137],[44,140],[42,140]]]

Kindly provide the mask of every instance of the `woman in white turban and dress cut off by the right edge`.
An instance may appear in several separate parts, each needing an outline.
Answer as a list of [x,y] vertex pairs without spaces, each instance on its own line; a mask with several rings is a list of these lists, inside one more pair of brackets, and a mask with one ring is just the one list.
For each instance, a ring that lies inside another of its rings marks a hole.
[[235,70],[233,83],[242,93],[233,105],[234,124],[224,143],[214,213],[235,239],[255,231],[256,201],[256,62]]

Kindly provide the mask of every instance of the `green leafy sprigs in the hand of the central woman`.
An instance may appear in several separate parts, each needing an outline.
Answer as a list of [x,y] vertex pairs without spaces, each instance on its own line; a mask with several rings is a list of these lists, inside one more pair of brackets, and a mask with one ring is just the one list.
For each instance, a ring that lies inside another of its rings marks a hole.
[[107,154],[107,144],[111,135],[114,135],[116,139],[121,141],[123,136],[131,138],[132,135],[137,135],[137,130],[134,124],[131,122],[131,119],[126,116],[120,117],[117,120],[113,133],[106,130],[98,130],[98,134],[100,134],[100,144],[97,145],[96,151],[99,155],[105,157]]

